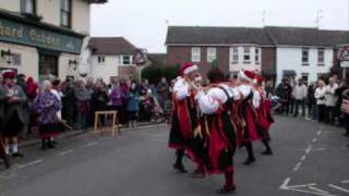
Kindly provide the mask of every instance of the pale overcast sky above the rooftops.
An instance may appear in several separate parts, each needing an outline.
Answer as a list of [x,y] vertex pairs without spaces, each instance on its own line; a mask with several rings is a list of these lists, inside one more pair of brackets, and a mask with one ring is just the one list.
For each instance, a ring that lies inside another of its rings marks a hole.
[[[91,35],[166,52],[170,26],[302,26],[349,29],[349,0],[109,0],[92,7]],[[263,14],[264,13],[264,14]]]

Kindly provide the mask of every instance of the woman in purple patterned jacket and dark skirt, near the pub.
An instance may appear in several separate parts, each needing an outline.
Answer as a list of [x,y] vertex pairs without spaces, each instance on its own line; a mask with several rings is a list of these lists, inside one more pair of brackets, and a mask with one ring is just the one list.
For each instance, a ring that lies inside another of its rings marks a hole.
[[58,117],[62,105],[51,87],[50,81],[44,81],[41,93],[34,101],[34,108],[38,112],[39,136],[41,138],[43,150],[46,148],[55,148],[56,146],[52,143],[52,138],[62,131]]

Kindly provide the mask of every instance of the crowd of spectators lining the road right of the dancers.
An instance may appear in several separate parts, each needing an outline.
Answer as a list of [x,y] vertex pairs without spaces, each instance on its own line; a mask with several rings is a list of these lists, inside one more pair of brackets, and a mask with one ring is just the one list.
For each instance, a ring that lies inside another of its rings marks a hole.
[[[268,90],[267,90],[268,91]],[[330,76],[327,81],[318,78],[311,84],[298,79],[291,83],[288,78],[269,93],[279,98],[276,112],[302,117],[330,125],[345,126],[345,136],[349,137],[349,115],[346,108],[349,106],[349,77]]]

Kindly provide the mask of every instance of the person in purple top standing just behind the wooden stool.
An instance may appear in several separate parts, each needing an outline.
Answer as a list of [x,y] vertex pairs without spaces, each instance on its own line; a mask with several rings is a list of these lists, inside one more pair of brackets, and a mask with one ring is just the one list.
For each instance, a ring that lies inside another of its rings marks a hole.
[[111,100],[111,106],[113,107],[115,110],[118,111],[118,120],[119,122],[125,122],[125,119],[123,118],[124,114],[124,93],[120,86],[120,82],[116,81],[113,82],[113,86],[111,87],[110,91],[110,100]]

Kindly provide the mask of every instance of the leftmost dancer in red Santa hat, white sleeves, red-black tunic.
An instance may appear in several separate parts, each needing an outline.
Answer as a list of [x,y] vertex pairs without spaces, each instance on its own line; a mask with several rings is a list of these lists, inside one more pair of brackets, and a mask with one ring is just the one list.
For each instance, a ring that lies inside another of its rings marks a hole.
[[197,65],[185,63],[180,70],[180,76],[173,86],[172,121],[169,136],[169,147],[176,149],[177,160],[173,168],[186,173],[182,159],[184,150],[189,149],[193,137],[193,131],[198,124],[195,106],[195,91],[192,83],[197,75]]

